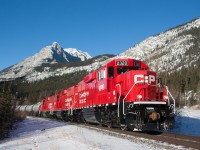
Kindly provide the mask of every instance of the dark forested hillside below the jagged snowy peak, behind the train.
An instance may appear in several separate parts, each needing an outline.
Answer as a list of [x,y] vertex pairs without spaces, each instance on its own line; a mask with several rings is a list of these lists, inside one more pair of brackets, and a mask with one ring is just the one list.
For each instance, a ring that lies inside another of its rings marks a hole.
[[59,93],[60,91],[76,85],[87,75],[86,71],[79,71],[63,76],[50,77],[42,81],[32,83],[23,82],[22,79],[17,79],[10,82],[1,82],[1,90],[8,90],[17,97],[20,104],[32,104],[42,100],[45,97]]

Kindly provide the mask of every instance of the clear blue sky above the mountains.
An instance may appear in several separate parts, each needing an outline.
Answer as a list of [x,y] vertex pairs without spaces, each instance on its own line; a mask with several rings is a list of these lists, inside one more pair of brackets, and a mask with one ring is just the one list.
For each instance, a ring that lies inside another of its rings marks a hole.
[[199,0],[0,0],[0,70],[54,41],[119,54],[199,16]]

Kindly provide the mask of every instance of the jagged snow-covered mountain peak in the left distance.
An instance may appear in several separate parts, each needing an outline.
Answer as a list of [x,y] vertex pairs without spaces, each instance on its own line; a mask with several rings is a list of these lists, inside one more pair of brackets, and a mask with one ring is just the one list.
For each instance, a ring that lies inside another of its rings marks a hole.
[[0,79],[15,79],[30,76],[35,72],[35,68],[43,64],[55,64],[61,62],[78,62],[92,58],[88,53],[77,49],[64,50],[57,42],[51,46],[46,46],[34,56],[26,58],[24,61],[15,64],[0,72]]

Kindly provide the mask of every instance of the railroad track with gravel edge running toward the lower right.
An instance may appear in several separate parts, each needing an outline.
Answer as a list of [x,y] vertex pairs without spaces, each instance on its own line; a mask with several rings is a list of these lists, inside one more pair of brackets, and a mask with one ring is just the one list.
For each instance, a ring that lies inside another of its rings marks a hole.
[[[80,126],[105,132],[118,137],[127,138],[129,140],[150,140],[151,143],[160,146],[162,149],[163,143],[165,143],[165,149],[176,149],[176,147],[200,149],[200,137],[181,135],[167,132],[152,132],[152,131],[123,131],[119,128],[108,128],[104,126],[98,126],[94,124],[80,124]],[[142,142],[143,142],[142,141]],[[147,140],[145,142],[148,142]]]

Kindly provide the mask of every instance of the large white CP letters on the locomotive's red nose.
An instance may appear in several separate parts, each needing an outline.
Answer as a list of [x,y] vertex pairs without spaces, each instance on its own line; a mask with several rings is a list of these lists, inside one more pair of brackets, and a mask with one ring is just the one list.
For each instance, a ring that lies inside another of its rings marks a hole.
[[156,81],[156,77],[154,75],[145,76],[143,74],[136,74],[134,76],[134,83],[146,83],[146,80],[149,84],[152,84]]

